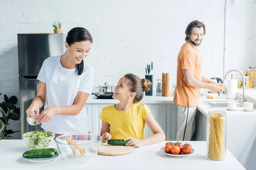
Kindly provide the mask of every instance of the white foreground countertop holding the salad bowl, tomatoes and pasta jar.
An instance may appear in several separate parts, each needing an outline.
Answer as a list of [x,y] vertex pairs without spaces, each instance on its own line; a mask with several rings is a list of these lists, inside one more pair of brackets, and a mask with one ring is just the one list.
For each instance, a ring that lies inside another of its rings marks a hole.
[[[227,150],[224,161],[206,158],[206,142],[189,142],[195,153],[185,157],[172,157],[160,152],[166,142],[138,147],[124,156],[100,156],[85,163],[65,161],[61,155],[53,161],[34,163],[22,158],[29,150],[23,140],[0,140],[0,170],[245,170],[238,160]],[[56,148],[53,141],[49,147]]]

